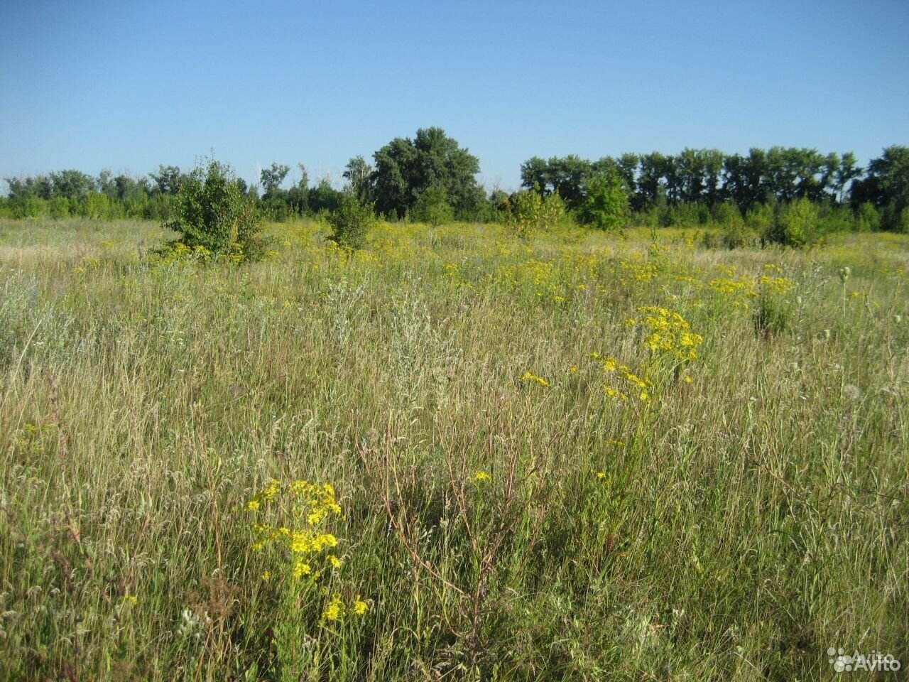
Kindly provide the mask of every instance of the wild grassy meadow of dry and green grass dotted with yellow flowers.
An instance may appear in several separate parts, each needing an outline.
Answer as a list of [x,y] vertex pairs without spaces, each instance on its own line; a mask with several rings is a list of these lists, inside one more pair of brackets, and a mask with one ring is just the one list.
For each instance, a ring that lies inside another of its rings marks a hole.
[[0,678],[909,666],[909,236],[269,231],[0,222]]

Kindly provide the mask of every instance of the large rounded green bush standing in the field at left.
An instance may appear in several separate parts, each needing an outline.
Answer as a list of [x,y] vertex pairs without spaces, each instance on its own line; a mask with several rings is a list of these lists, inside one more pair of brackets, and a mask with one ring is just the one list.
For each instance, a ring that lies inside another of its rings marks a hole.
[[215,159],[185,176],[165,227],[179,233],[186,246],[202,246],[215,256],[261,255],[255,202],[244,196],[230,166]]

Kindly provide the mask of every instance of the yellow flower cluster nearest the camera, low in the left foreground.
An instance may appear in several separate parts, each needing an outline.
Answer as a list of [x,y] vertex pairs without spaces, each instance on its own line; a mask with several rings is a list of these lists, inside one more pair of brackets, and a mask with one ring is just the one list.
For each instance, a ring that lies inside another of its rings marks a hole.
[[[266,547],[279,547],[283,555],[290,557],[293,577],[317,580],[326,568],[341,566],[340,558],[324,554],[337,547],[338,539],[321,526],[329,518],[341,516],[341,506],[335,500],[335,488],[330,483],[296,480],[282,485],[272,479],[246,503],[245,508],[250,512],[271,511],[272,517],[290,517],[289,525],[294,528],[281,523],[253,523],[256,534],[253,550],[261,552]],[[270,572],[265,571],[265,574],[270,575]]]

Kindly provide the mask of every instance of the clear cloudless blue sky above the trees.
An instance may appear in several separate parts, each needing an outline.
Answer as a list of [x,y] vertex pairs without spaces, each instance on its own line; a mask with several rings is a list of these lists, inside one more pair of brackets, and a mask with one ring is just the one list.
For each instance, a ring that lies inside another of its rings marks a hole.
[[0,0],[0,177],[214,149],[251,182],[273,161],[340,182],[431,125],[504,189],[534,155],[864,163],[909,144],[909,2]]

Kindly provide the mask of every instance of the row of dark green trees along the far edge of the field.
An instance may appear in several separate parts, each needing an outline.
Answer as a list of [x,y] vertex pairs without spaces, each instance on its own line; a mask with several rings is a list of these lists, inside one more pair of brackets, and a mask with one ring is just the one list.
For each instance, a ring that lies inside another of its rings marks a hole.
[[[748,216],[767,206],[807,201],[837,229],[909,231],[909,147],[892,145],[861,167],[851,152],[774,146],[745,155],[685,148],[676,155],[627,153],[588,160],[533,156],[521,165],[522,190],[487,191],[476,181],[479,159],[441,128],[395,137],[345,166],[345,186],[310,185],[305,166],[285,187],[290,166],[273,163],[256,185],[237,178],[241,192],[268,219],[331,213],[345,194],[386,219],[434,224],[506,221],[536,195],[560,203],[574,219],[610,227],[622,222],[671,226],[708,224],[718,216]],[[160,165],[145,177],[96,177],[77,170],[6,178],[0,215],[136,217],[166,220],[189,174]],[[558,206],[556,206],[558,208]]]

